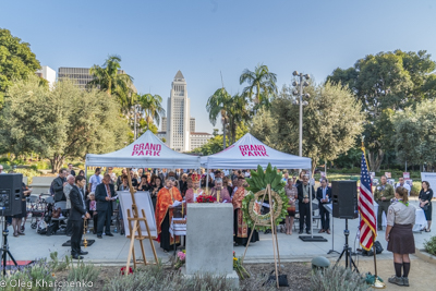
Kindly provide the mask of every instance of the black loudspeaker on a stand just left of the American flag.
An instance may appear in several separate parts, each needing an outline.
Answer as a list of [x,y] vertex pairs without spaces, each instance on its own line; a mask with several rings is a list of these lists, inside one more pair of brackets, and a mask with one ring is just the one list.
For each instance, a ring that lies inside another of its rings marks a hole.
[[332,216],[354,219],[359,217],[358,182],[331,181]]

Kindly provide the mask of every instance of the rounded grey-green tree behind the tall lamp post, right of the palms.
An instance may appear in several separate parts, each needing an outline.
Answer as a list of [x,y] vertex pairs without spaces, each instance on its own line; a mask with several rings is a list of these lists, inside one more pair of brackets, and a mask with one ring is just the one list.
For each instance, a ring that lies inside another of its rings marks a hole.
[[[346,88],[326,83],[310,86],[308,106],[303,113],[303,155],[312,158],[315,170],[319,160],[334,160],[354,146],[362,132],[361,105]],[[299,107],[291,96],[281,95],[271,109],[261,109],[253,119],[251,133],[278,150],[299,153]]]

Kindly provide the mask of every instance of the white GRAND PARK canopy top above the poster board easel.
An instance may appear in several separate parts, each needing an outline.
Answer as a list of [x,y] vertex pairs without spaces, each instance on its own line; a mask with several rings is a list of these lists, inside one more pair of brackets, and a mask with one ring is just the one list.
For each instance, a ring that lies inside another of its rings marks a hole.
[[126,147],[102,155],[86,155],[86,167],[199,169],[199,157],[178,153],[147,131]]

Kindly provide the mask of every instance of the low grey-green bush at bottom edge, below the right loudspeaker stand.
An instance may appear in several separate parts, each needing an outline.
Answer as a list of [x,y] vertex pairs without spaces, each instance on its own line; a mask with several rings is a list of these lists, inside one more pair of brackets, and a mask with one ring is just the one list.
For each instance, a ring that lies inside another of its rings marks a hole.
[[349,268],[332,267],[317,270],[311,278],[314,291],[363,291],[368,290],[365,279]]

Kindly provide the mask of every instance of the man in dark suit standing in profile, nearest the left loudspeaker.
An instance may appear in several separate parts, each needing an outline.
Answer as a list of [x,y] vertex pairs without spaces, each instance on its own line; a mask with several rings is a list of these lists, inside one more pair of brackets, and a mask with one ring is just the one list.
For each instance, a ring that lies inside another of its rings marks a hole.
[[83,259],[82,255],[87,255],[88,252],[81,250],[82,234],[83,234],[83,219],[88,219],[90,216],[86,211],[85,195],[83,187],[86,184],[85,177],[77,175],[75,178],[75,185],[70,192],[71,210],[69,222],[71,220],[71,255],[74,259]]

